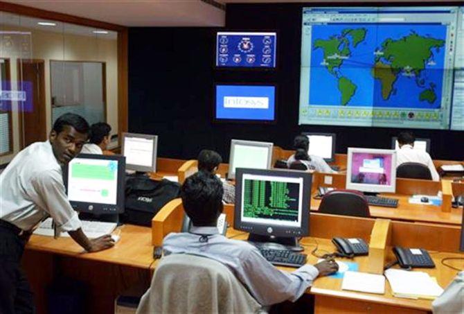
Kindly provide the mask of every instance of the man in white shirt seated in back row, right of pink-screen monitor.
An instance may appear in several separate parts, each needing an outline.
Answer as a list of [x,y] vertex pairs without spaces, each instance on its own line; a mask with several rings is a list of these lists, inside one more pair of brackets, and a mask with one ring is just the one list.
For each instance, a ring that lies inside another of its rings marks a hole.
[[429,168],[431,179],[440,181],[440,175],[438,175],[429,153],[414,149],[414,141],[416,141],[416,137],[411,132],[401,132],[398,135],[398,146],[400,146],[400,149],[396,152],[396,166],[398,167],[405,162],[423,164]]

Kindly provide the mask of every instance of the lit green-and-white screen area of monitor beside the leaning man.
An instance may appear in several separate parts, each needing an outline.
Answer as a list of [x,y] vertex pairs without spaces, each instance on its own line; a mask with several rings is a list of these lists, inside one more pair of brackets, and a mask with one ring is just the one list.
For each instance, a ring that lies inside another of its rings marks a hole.
[[69,162],[68,198],[71,202],[116,205],[118,161],[76,157]]

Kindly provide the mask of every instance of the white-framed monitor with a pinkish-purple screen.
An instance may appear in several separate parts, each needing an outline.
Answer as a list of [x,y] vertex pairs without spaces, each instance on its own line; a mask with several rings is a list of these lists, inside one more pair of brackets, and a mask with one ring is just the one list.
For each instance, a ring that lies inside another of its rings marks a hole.
[[346,189],[395,193],[396,151],[348,148]]

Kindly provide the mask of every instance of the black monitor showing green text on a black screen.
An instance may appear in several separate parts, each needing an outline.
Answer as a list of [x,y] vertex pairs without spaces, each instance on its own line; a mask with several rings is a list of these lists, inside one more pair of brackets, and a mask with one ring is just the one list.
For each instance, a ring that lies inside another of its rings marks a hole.
[[307,236],[311,173],[237,168],[234,228],[249,241],[277,242],[298,250],[296,238]]

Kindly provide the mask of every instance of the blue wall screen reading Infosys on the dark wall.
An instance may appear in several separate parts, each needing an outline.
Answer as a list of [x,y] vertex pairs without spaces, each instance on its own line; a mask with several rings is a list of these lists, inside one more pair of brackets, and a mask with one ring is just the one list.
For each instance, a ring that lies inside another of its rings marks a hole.
[[276,87],[216,85],[216,119],[274,121]]

